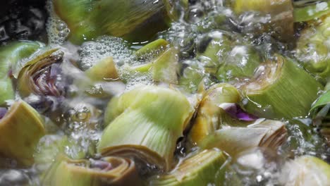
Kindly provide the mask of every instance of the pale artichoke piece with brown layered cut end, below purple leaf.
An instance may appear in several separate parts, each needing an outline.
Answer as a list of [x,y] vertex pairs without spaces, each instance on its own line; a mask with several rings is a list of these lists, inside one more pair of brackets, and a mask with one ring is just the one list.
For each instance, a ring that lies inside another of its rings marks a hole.
[[277,149],[286,141],[286,128],[276,120],[257,120],[246,127],[229,127],[216,130],[197,144],[202,149],[219,148],[231,156],[255,147]]

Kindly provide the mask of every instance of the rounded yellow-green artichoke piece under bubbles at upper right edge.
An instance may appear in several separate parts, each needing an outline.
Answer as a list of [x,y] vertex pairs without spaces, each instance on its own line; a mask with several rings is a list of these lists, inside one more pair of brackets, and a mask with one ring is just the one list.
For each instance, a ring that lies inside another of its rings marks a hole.
[[330,17],[320,18],[321,22],[302,30],[295,49],[295,57],[310,73],[329,79],[330,75]]

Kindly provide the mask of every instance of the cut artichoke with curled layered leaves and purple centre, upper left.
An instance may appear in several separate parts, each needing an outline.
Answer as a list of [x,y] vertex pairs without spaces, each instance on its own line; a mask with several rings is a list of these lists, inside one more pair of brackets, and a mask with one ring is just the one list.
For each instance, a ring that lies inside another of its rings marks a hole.
[[49,49],[40,51],[18,73],[17,89],[22,97],[30,94],[39,96],[61,97],[64,94],[64,87],[57,82],[63,58],[63,51]]

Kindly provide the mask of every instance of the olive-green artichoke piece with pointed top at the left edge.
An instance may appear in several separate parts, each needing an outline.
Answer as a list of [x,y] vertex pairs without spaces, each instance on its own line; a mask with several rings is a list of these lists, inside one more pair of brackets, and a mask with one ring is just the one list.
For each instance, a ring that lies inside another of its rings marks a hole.
[[0,120],[0,154],[23,166],[33,163],[39,139],[45,135],[39,113],[24,101],[16,101]]

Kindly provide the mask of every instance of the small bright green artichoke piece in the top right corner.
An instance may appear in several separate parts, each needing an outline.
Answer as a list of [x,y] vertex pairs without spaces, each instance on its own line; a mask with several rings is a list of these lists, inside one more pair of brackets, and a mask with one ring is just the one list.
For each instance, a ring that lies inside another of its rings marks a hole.
[[309,21],[330,13],[329,1],[295,1],[293,18],[295,22]]

